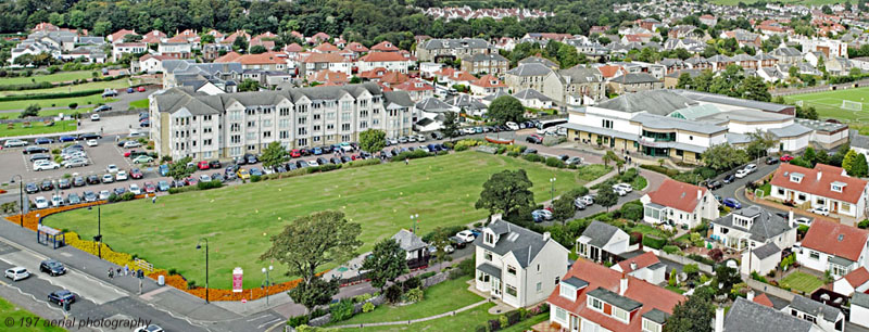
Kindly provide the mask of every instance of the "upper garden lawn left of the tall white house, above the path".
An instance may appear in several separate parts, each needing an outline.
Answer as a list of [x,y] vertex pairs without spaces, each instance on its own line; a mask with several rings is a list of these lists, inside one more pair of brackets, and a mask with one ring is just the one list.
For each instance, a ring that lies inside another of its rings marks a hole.
[[358,314],[353,318],[335,323],[336,325],[349,325],[358,323],[371,323],[382,321],[399,321],[426,318],[484,301],[477,294],[468,291],[468,280],[473,278],[461,278],[446,280],[425,290],[425,297],[421,302],[406,306],[390,306],[388,304],[377,307],[371,312]]

